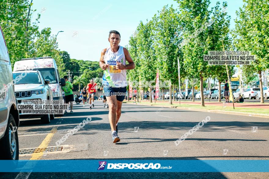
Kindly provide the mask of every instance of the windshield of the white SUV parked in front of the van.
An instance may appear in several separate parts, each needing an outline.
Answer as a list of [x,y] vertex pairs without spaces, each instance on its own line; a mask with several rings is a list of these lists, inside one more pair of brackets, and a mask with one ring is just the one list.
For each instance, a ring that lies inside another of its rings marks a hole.
[[[21,74],[22,73],[13,73],[13,79],[20,77]],[[42,81],[38,73],[28,73],[26,77],[21,78],[15,84],[42,84]]]

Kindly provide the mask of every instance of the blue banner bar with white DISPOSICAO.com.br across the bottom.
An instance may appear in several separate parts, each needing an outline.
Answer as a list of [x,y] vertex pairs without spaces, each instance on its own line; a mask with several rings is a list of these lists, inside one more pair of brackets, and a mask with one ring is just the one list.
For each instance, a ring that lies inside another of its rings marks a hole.
[[0,172],[269,172],[269,160],[0,160]]

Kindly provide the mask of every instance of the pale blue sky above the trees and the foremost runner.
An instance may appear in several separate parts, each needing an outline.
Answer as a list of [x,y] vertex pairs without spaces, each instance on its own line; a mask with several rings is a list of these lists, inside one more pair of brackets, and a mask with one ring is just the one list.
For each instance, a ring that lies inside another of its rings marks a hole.
[[[217,0],[211,0],[210,7]],[[222,5],[223,1],[220,1]],[[234,28],[236,10],[243,6],[242,0],[226,0],[227,13],[231,16],[230,28]],[[136,0],[136,1],[71,1],[71,0],[33,0],[32,22],[37,13],[40,30],[50,27],[52,34],[57,34],[58,47],[67,51],[70,58],[78,60],[99,61],[102,49],[109,46],[109,30],[120,32],[120,45],[128,44],[139,22],[151,20],[164,5],[178,3],[173,0]]]

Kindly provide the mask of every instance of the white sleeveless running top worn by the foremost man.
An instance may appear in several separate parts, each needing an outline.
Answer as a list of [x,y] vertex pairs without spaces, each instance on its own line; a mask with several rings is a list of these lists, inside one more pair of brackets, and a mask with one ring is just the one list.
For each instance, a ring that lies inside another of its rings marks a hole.
[[123,47],[119,45],[118,52],[112,52],[108,47],[105,52],[104,60],[105,64],[109,64],[109,68],[104,71],[103,84],[109,85],[115,88],[127,86],[126,70],[116,70],[116,63],[122,63],[126,65],[126,59],[123,52]]

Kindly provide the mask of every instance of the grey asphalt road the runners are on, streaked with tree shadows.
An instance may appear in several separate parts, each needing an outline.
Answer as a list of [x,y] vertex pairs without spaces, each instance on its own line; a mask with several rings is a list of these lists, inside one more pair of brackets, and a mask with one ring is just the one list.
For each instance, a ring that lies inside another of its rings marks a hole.
[[[118,144],[112,143],[108,109],[96,101],[90,110],[74,105],[75,113],[40,124],[21,120],[20,149],[55,146],[68,130],[92,118],[69,136],[65,152],[19,159],[269,159],[269,121],[252,116],[123,104]],[[175,141],[207,116],[210,121],[176,146]],[[139,129],[138,129],[139,127]],[[253,127],[258,127],[253,132]],[[138,129],[138,130],[135,130]],[[49,136],[51,130],[57,130]],[[136,131],[136,132],[135,132]],[[48,140],[49,138],[49,140]],[[165,152],[164,152],[165,151]],[[2,173],[0,178],[269,178],[268,173]]]

